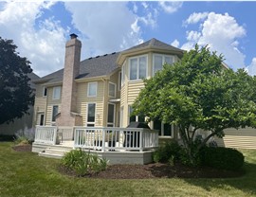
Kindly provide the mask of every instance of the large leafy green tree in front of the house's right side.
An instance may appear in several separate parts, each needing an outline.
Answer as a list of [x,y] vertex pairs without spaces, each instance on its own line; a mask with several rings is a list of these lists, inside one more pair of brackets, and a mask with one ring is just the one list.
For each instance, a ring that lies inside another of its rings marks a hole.
[[[195,164],[210,137],[223,137],[227,128],[255,127],[255,87],[247,72],[225,68],[222,56],[196,45],[179,62],[165,64],[155,77],[145,80],[134,114],[177,125],[190,163]],[[200,129],[210,134],[195,143]]]

